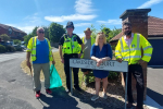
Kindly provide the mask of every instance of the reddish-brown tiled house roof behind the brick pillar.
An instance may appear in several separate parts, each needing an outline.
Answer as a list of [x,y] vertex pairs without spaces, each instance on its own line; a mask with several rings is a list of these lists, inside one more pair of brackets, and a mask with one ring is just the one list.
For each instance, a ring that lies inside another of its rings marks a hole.
[[[110,41],[118,40],[123,35],[121,32],[114,36]],[[163,20],[154,16],[148,16],[148,36],[161,36],[163,35]]]

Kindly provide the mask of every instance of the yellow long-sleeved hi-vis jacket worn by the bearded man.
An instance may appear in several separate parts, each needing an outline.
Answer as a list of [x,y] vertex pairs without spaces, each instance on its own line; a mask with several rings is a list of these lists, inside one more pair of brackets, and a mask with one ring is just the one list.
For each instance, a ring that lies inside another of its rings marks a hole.
[[[143,57],[141,57],[141,48],[143,49]],[[136,64],[140,59],[149,62],[152,50],[152,46],[141,34],[134,34],[130,47],[127,46],[124,37],[121,37],[115,48],[115,57],[128,61],[128,64]]]

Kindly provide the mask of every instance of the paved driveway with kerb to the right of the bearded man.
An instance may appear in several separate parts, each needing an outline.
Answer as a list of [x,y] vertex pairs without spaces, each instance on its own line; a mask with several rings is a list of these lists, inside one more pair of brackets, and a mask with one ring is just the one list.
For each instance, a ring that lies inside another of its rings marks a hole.
[[150,109],[163,109],[163,68],[148,68],[147,95]]

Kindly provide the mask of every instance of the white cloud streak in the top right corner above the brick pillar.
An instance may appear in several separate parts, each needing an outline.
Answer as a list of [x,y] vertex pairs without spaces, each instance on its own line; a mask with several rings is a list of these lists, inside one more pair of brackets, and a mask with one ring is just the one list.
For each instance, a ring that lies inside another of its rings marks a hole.
[[143,4],[141,4],[140,7],[138,7],[137,9],[145,9],[145,8],[150,8],[153,4],[158,4],[160,2],[162,2],[163,0],[149,0],[147,2],[145,2]]

